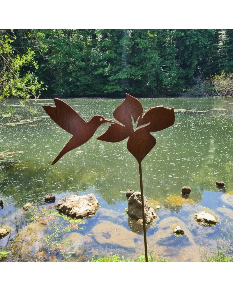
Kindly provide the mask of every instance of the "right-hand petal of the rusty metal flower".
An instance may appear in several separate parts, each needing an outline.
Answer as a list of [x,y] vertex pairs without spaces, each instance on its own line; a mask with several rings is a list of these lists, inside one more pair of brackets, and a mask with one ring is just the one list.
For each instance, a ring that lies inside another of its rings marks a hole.
[[140,117],[137,123],[137,127],[150,123],[145,126],[148,132],[156,132],[170,127],[175,122],[174,108],[166,108],[163,106],[156,106]]

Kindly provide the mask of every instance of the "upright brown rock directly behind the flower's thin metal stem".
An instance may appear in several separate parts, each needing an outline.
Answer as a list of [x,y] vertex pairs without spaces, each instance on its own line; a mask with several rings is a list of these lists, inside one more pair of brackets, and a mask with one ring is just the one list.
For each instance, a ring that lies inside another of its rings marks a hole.
[[[145,220],[146,223],[149,224],[156,218],[158,215],[155,213],[153,208],[151,208],[148,203],[147,199],[144,196],[144,211],[145,211]],[[142,200],[141,200],[141,193],[134,192],[128,199],[128,208],[126,213],[129,217],[135,219],[142,219]]]

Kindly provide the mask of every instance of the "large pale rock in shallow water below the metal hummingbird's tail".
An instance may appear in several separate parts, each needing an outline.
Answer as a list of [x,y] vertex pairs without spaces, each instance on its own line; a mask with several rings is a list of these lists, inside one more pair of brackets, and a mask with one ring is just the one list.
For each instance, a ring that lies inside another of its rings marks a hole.
[[68,216],[83,218],[94,215],[99,207],[99,202],[93,193],[83,196],[71,194],[60,199],[55,207]]

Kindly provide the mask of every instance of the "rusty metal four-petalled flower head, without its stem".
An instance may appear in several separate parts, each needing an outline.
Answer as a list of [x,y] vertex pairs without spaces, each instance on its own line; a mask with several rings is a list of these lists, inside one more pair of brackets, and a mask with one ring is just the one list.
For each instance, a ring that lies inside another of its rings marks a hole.
[[[144,116],[142,113],[141,102],[126,94],[126,99],[113,112],[113,116],[123,125],[112,123],[107,131],[97,139],[115,143],[129,137],[127,149],[141,164],[144,157],[156,145],[156,139],[150,133],[170,127],[175,121],[173,107],[157,106],[149,109]],[[144,126],[134,131],[131,116],[135,123],[139,118],[137,127]]]

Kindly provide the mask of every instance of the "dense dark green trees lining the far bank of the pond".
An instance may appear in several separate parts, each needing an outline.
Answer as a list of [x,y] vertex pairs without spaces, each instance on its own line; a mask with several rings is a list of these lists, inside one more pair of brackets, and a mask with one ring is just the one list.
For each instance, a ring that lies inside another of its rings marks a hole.
[[[20,68],[34,65],[30,74],[48,87],[43,95],[176,95],[194,78],[233,71],[231,29],[24,30],[24,38],[22,31],[7,33],[22,39],[21,58],[27,58]],[[17,50],[11,58],[16,55]],[[28,73],[21,77],[27,79]],[[41,83],[33,80],[40,91]]]

